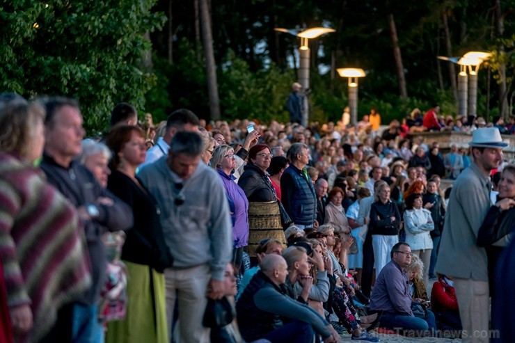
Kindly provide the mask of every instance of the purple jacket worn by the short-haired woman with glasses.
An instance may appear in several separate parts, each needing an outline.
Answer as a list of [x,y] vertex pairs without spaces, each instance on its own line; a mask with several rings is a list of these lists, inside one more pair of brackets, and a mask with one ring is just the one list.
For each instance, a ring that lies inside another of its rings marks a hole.
[[248,246],[248,200],[245,192],[235,182],[235,177],[227,175],[223,170],[218,169],[225,193],[229,200],[229,207],[232,219],[232,240],[234,248]]

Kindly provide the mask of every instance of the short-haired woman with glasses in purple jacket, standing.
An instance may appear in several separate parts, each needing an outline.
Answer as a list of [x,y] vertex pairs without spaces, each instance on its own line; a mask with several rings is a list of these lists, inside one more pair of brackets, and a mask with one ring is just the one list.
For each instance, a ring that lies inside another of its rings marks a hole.
[[232,219],[232,263],[239,270],[243,248],[248,245],[248,200],[245,192],[235,182],[232,171],[236,168],[235,151],[229,145],[219,145],[213,151],[211,166],[220,175],[229,201]]

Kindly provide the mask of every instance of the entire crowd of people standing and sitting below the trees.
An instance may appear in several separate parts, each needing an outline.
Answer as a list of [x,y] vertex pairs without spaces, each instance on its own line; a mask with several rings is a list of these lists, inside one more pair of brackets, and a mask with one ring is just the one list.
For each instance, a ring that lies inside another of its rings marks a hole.
[[513,123],[457,118],[472,140],[443,154],[418,136],[438,111],[381,133],[376,109],[154,125],[122,103],[84,139],[74,99],[0,95],[0,342],[510,342]]

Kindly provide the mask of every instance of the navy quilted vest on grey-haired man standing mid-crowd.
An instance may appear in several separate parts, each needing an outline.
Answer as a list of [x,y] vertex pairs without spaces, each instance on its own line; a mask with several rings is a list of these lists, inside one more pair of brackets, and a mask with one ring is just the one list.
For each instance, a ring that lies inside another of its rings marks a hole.
[[308,173],[290,164],[280,177],[281,202],[294,223],[313,225],[317,216],[317,195]]

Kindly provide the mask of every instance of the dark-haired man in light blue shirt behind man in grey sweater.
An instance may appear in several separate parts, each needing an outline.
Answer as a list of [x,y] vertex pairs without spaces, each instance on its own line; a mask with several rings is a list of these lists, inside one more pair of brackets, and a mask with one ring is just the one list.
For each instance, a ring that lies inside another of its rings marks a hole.
[[188,109],[178,109],[172,112],[171,115],[168,115],[168,119],[166,120],[164,136],[157,138],[156,145],[148,150],[145,162],[141,163],[140,168],[166,156],[168,149],[170,149],[170,142],[176,132],[197,132],[199,124],[198,117]]

